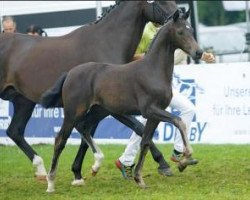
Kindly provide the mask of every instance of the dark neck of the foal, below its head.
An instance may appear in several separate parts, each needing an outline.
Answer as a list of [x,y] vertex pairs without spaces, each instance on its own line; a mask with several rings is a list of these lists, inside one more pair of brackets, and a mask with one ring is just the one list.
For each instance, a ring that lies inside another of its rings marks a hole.
[[169,38],[169,31],[166,32],[164,30],[158,33],[145,56],[145,60],[149,63],[147,67],[150,70],[164,75],[167,81],[171,82],[174,69],[174,51],[176,48]]

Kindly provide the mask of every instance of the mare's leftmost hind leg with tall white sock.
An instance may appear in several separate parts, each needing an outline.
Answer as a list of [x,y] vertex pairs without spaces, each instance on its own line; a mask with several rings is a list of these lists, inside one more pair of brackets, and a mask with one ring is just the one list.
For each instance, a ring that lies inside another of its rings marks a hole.
[[32,149],[24,139],[24,130],[31,117],[35,103],[21,95],[12,99],[14,114],[11,123],[7,129],[7,135],[16,143],[16,145],[26,154],[36,167],[35,175],[37,179],[46,179],[46,169],[43,159]]

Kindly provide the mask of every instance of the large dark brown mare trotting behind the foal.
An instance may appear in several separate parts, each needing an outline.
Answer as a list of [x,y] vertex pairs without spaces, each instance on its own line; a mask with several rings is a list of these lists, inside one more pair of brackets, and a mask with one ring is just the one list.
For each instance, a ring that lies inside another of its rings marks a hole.
[[[168,14],[175,10],[176,4],[172,1],[124,1],[117,3],[96,23],[62,37],[0,34],[0,98],[14,105],[7,135],[36,166],[37,176],[46,176],[45,167],[42,158],[24,139],[24,130],[43,92],[64,72],[80,63],[96,61],[121,64],[131,61],[145,24],[148,21],[162,24]],[[86,120],[89,123],[77,127],[79,132],[90,131],[93,135],[98,122],[109,114],[101,108],[93,109],[95,112],[90,112]],[[143,126],[135,118],[114,117],[142,134]],[[72,165],[76,180],[81,180],[81,165],[87,148],[82,139]],[[160,166],[168,167],[159,151],[153,155]]]

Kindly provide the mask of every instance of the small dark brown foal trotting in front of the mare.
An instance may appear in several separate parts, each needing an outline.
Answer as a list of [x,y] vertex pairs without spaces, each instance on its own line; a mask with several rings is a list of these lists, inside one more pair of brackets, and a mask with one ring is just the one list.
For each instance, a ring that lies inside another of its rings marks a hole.
[[[65,117],[55,140],[47,192],[54,191],[58,159],[72,129],[84,119],[91,106],[99,105],[120,115],[142,114],[148,119],[135,168],[134,178],[139,186],[145,187],[141,169],[160,121],[173,123],[180,130],[185,145],[184,154],[186,158],[191,156],[192,148],[187,139],[185,124],[180,117],[165,111],[172,98],[174,51],[180,48],[193,59],[200,59],[202,55],[193,37],[193,30],[186,21],[188,16],[189,12],[180,13],[177,10],[160,29],[149,52],[141,60],[124,65],[85,63],[70,70],[64,81],[58,80],[54,90],[57,87],[62,89]],[[43,96],[42,105],[53,100],[55,94],[50,91]]]

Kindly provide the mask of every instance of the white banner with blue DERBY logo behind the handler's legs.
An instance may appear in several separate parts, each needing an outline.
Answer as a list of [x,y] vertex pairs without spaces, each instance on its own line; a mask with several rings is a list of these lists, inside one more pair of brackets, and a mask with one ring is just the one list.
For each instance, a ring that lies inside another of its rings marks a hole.
[[[175,79],[196,106],[191,142],[250,143],[249,62],[176,66]],[[159,139],[172,140],[162,124]]]

